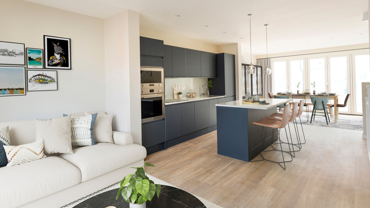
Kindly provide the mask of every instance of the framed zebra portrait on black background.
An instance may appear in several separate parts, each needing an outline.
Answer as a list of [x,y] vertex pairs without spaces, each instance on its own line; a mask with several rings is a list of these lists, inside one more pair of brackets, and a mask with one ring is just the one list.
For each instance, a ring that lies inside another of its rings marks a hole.
[[71,39],[44,36],[44,68],[71,69]]

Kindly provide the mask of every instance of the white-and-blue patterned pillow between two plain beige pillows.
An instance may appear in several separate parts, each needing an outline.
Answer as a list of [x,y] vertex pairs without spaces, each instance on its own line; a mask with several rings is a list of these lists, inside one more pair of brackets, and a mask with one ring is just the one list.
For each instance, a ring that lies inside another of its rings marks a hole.
[[[87,116],[71,116],[72,147],[95,145],[94,124],[98,113]],[[67,116],[63,114],[63,116]]]

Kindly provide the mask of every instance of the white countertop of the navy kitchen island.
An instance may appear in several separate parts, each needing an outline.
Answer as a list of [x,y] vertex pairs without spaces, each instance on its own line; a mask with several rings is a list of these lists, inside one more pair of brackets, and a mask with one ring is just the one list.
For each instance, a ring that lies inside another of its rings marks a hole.
[[265,100],[266,100],[266,103],[270,103],[270,104],[268,105],[244,104],[242,103],[242,100],[236,100],[236,101],[231,101],[227,103],[216,104],[216,106],[267,110],[267,109],[276,107],[277,105],[281,105],[283,103],[288,103],[292,101],[292,99],[278,99],[278,98],[265,98]]

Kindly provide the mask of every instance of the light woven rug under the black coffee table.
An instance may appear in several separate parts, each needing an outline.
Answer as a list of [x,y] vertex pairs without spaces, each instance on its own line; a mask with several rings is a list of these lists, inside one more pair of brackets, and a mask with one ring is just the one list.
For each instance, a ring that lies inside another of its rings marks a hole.
[[[151,176],[149,174],[148,174],[148,177],[150,178],[150,180],[154,181],[155,184],[168,185],[168,186],[175,187],[174,185],[171,185],[171,184],[169,184],[169,183],[167,183],[165,181],[162,181],[162,180],[160,180],[160,179],[158,179],[158,178],[156,178],[154,176]],[[83,197],[81,199],[78,199],[78,200],[76,200],[76,201],[74,201],[74,202],[72,202],[70,204],[67,204],[67,205],[61,207],[61,208],[72,208],[75,205],[80,204],[81,202],[85,201],[86,199],[91,198],[91,197],[94,197],[94,196],[96,196],[96,195],[98,195],[98,194],[100,194],[102,192],[109,191],[109,190],[112,190],[112,189],[115,189],[115,188],[120,188],[120,183],[121,182],[117,182],[117,183],[115,183],[113,185],[110,185],[108,187],[105,187],[105,188],[103,188],[103,189],[101,189],[101,190],[99,190],[97,192],[94,192],[94,193],[92,193],[90,195],[87,195],[86,197]],[[176,187],[176,188],[178,188],[178,187]],[[220,206],[218,206],[216,204],[213,204],[210,201],[207,201],[206,199],[203,199],[203,198],[198,197],[196,195],[194,195],[194,196],[196,198],[198,198],[207,208],[222,208],[222,207],[220,207]],[[104,208],[104,207],[102,207],[102,208]]]

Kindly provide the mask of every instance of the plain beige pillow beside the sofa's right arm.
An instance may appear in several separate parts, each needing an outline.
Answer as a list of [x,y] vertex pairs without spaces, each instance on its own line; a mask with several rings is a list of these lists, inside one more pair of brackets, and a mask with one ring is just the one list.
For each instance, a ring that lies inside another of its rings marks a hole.
[[[91,113],[85,111],[85,115],[91,115]],[[95,143],[114,143],[112,137],[112,120],[113,114],[98,113],[94,129],[92,130],[94,132]]]

